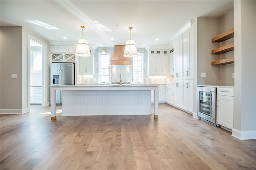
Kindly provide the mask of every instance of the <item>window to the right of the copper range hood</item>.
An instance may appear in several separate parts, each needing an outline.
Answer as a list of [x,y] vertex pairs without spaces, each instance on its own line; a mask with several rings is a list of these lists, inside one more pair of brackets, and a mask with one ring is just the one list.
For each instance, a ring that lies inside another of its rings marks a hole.
[[142,55],[132,57],[132,82],[142,82]]

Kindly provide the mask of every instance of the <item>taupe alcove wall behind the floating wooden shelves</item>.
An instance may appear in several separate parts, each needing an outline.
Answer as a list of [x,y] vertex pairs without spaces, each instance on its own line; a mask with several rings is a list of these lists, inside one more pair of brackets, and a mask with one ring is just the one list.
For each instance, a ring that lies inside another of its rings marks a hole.
[[[221,43],[212,38],[234,28],[233,10],[222,18],[197,18],[197,83],[198,85],[234,86],[234,64],[212,65],[212,61],[234,57],[234,51],[212,54],[212,50],[234,42],[234,38]],[[206,72],[206,78],[201,73]]]

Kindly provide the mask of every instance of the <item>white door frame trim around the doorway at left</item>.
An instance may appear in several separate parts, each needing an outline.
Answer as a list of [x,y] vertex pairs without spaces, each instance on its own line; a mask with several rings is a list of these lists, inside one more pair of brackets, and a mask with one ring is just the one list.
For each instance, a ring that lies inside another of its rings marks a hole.
[[28,106],[30,106],[30,39],[36,41],[42,45],[42,106],[48,106],[47,104],[47,44],[40,41],[39,39],[28,35]]

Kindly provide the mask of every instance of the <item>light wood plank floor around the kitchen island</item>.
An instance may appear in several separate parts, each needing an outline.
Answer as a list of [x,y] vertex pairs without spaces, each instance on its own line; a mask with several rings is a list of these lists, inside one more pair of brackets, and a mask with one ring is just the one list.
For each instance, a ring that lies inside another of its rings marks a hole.
[[[58,106],[61,109],[61,106]],[[1,170],[255,170],[256,140],[167,104],[153,115],[60,116],[30,106],[1,115]]]

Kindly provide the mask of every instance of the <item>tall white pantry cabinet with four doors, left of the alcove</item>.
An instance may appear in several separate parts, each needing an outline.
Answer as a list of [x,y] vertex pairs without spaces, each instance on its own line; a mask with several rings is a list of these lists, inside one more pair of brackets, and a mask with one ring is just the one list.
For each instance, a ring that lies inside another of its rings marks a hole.
[[193,112],[194,26],[174,41],[174,106]]

